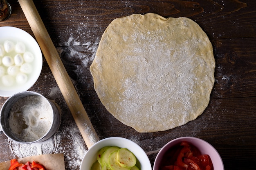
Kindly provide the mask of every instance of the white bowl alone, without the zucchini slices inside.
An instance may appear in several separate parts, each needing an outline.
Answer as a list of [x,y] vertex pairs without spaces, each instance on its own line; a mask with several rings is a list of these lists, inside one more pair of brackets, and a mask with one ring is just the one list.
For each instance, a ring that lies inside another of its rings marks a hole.
[[144,150],[129,139],[122,137],[109,137],[95,143],[84,155],[80,170],[90,170],[92,164],[97,160],[97,152],[104,146],[118,146],[130,150],[139,161],[140,170],[152,170],[148,156]]

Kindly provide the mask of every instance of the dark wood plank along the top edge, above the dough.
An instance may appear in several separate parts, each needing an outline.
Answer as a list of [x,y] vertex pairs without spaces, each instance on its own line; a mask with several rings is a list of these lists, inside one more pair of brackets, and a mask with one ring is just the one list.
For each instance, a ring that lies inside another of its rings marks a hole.
[[[252,15],[256,12],[256,4],[249,0],[99,0],[97,3],[91,0],[40,0],[34,3],[56,46],[70,45],[67,44],[70,38],[80,45],[88,43],[88,40],[91,44],[99,43],[103,31],[115,18],[148,12],[164,17],[189,17],[211,39],[256,36],[256,18]],[[7,25],[27,26],[19,4],[14,0],[10,0],[10,4],[13,13]]]

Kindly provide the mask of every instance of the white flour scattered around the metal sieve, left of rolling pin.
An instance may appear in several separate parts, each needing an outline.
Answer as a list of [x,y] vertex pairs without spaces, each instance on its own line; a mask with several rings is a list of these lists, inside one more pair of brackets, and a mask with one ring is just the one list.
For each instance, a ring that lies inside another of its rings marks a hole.
[[83,155],[87,151],[85,142],[76,123],[67,113],[67,106],[58,87],[52,87],[47,98],[54,99],[62,109],[62,120],[59,130],[50,139],[33,144],[21,144],[8,139],[11,157],[29,157],[42,154],[63,153],[66,169],[79,169]]

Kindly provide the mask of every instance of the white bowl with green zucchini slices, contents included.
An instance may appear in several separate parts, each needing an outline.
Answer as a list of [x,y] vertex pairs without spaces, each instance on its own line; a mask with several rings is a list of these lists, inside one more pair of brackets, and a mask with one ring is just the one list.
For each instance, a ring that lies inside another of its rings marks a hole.
[[84,155],[80,170],[151,170],[144,150],[129,139],[109,137],[95,143]]

